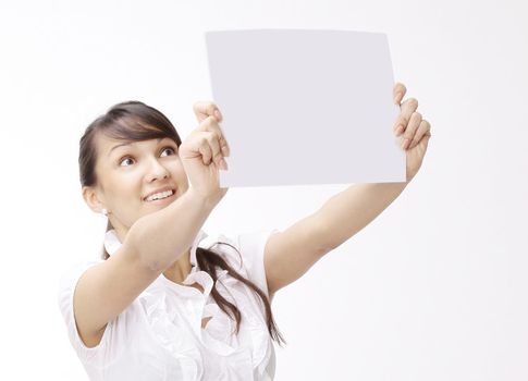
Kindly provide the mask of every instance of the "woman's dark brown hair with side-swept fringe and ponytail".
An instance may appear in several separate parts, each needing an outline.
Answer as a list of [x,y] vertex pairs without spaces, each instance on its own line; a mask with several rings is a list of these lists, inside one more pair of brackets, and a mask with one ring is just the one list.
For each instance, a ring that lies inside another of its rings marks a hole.
[[[177,148],[180,148],[180,145],[182,144],[182,140],[176,130],[169,121],[169,119],[160,111],[139,101],[127,101],[118,103],[110,108],[110,110],[108,110],[106,114],[97,118],[94,122],[91,122],[91,124],[86,127],[86,131],[81,138],[78,165],[82,186],[94,186],[97,184],[95,168],[98,153],[95,138],[98,133],[103,133],[111,138],[127,142],[169,137],[174,140]],[[109,220],[107,224],[107,232],[111,229],[113,229],[113,226]],[[220,242],[219,244],[233,247],[232,245],[223,242]],[[235,247],[233,248],[236,250]],[[102,258],[109,258],[105,246],[102,247]],[[211,290],[211,295],[220,309],[222,309],[222,311],[230,316],[231,319],[234,319],[236,321],[236,333],[238,333],[240,330],[242,315],[236,305],[226,300],[218,292],[217,268],[226,270],[229,275],[244,283],[260,297],[266,310],[266,321],[271,337],[280,345],[281,342],[285,343],[273,320],[270,300],[268,296],[262,292],[262,290],[260,290],[255,283],[253,283],[248,279],[242,276],[219,254],[210,249],[197,247],[196,260],[198,268],[202,271],[206,271],[214,281],[214,286]]]

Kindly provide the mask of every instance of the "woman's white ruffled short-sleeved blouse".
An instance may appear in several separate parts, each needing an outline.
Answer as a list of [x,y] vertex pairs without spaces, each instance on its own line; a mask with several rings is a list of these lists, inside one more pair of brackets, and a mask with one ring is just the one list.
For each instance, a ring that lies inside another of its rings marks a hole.
[[[242,315],[241,329],[214,303],[211,276],[197,271],[196,248],[212,248],[266,295],[263,248],[277,230],[245,233],[230,238],[208,236],[202,230],[191,248],[191,273],[181,285],[160,274],[125,310],[109,321],[101,342],[87,347],[73,315],[73,292],[79,276],[103,259],[83,262],[63,275],[59,307],[70,342],[90,380],[272,380],[273,343],[260,297],[244,283],[218,270],[217,290]],[[236,253],[226,242],[238,249]],[[115,231],[108,231],[105,247],[112,255],[121,246]],[[205,290],[189,286],[199,283]],[[205,328],[201,320],[211,317]]]

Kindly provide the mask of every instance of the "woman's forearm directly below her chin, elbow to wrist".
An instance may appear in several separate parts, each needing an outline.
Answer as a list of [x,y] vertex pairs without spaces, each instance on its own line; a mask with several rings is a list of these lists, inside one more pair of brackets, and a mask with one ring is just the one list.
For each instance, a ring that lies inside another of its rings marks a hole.
[[163,271],[184,254],[213,210],[218,200],[207,200],[189,188],[170,206],[142,217],[128,236],[143,262]]

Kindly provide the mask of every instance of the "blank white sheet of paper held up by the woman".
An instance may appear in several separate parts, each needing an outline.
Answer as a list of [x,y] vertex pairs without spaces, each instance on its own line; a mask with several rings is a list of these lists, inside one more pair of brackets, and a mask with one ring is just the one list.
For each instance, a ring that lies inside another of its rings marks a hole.
[[405,181],[385,34],[253,29],[205,37],[231,147],[221,187]]

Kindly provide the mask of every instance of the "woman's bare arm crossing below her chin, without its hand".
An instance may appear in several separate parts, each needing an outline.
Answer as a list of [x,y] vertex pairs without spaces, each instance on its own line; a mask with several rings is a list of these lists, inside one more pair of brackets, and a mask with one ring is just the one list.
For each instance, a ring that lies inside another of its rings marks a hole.
[[137,220],[115,254],[85,271],[75,287],[73,306],[77,330],[86,346],[97,345],[107,322],[121,314],[163,271],[161,265],[152,265],[147,257],[146,245],[152,244],[146,238],[147,234],[158,232],[155,234],[158,243],[150,246],[154,257],[168,258],[165,245],[170,242],[175,260],[193,244],[211,210],[189,189],[167,208]]

